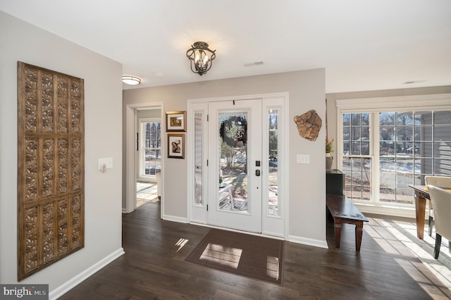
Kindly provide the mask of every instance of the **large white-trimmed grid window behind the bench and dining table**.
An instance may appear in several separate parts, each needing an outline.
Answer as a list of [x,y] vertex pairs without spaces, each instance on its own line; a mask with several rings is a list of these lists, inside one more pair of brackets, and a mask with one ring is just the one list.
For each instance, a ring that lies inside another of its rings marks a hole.
[[409,185],[451,175],[450,95],[338,100],[337,107],[338,168],[352,201],[413,207]]

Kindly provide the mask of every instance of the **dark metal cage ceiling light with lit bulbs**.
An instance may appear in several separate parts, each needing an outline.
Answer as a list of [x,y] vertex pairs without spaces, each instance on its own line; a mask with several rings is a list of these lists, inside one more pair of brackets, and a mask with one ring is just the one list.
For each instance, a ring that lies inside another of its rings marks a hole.
[[211,61],[216,58],[216,50],[211,51],[206,42],[195,42],[191,49],[186,51],[187,58],[190,59],[191,70],[199,75],[204,75],[211,69]]

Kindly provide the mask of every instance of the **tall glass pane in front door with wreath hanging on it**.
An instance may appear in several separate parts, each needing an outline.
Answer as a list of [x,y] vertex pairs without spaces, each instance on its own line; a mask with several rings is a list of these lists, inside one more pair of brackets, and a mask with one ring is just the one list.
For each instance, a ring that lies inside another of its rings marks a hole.
[[217,207],[247,213],[247,112],[219,113]]

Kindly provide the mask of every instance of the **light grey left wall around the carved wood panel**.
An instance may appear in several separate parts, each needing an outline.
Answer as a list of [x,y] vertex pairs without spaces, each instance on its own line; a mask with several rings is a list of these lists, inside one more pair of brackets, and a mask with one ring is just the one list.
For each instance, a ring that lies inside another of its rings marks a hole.
[[85,80],[85,248],[20,282],[53,291],[121,251],[122,65],[1,11],[0,49],[1,283],[17,282],[17,61]]

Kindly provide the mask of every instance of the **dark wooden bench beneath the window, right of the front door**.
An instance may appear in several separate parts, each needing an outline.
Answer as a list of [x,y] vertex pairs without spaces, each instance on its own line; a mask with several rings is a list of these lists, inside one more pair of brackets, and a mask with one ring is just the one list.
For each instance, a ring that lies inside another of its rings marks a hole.
[[364,214],[345,195],[326,194],[326,206],[332,215],[335,228],[335,247],[340,248],[342,223],[355,225],[355,251],[360,251],[364,222],[368,222]]

